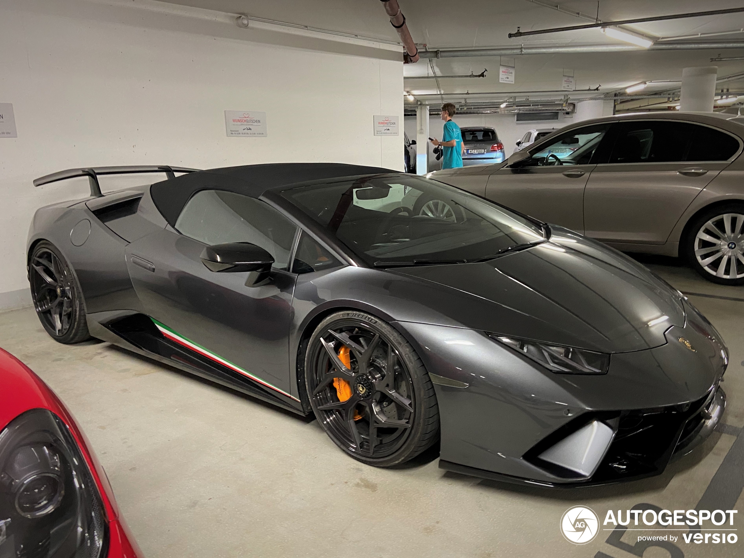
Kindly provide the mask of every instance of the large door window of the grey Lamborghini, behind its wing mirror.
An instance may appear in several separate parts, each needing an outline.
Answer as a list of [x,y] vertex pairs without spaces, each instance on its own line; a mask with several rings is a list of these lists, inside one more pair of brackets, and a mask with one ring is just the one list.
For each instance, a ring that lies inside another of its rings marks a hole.
[[176,230],[209,245],[255,244],[272,254],[275,269],[287,269],[297,227],[259,199],[225,190],[202,190],[182,209]]

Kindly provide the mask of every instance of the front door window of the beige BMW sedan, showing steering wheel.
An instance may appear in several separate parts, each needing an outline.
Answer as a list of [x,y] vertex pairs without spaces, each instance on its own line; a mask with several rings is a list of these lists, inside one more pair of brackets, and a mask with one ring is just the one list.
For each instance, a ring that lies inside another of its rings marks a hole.
[[530,152],[532,157],[520,167],[589,164],[609,126],[594,124],[562,133],[539,151]]

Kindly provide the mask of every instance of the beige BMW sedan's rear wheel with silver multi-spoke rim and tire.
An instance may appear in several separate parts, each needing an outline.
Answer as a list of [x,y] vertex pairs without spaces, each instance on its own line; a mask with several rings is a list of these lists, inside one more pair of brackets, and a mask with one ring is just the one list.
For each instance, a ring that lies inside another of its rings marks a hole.
[[696,217],[683,250],[690,266],[709,281],[744,284],[744,203],[719,205]]

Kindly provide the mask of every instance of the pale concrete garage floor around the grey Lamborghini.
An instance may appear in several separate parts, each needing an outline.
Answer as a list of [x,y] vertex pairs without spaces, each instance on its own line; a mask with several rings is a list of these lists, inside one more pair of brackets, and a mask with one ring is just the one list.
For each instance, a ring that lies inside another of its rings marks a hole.
[[[364,466],[315,421],[106,343],[57,344],[30,308],[0,315],[0,346],[45,379],[77,417],[149,558],[623,558],[632,556],[623,543],[635,544],[638,533],[610,545],[607,530],[572,545],[559,532],[565,510],[583,504],[603,519],[607,510],[641,503],[689,510],[701,498],[702,509],[714,510],[720,496],[736,502],[723,509],[740,510],[730,528],[744,521],[744,464],[736,462],[744,455],[744,287],[708,283],[676,260],[643,261],[696,293],[690,300],[728,343],[722,422],[729,426],[664,475],[613,487],[513,487],[444,472],[435,452],[402,469]],[[682,532],[669,533],[679,536],[674,558],[744,554],[741,540],[685,544]],[[670,552],[652,547],[643,556]]]

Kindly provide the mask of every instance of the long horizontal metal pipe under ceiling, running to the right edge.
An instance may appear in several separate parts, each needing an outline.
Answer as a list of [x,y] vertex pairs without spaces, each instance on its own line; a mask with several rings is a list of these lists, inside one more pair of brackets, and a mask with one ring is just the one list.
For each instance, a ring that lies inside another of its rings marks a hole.
[[628,51],[698,51],[698,50],[723,50],[726,48],[744,48],[744,41],[728,42],[655,42],[649,48],[641,48],[635,45],[559,45],[525,47],[494,47],[494,48],[468,48],[451,50],[434,50],[421,52],[422,58],[472,58],[472,57],[501,57],[519,56],[522,54],[586,54],[591,52],[628,52]]

